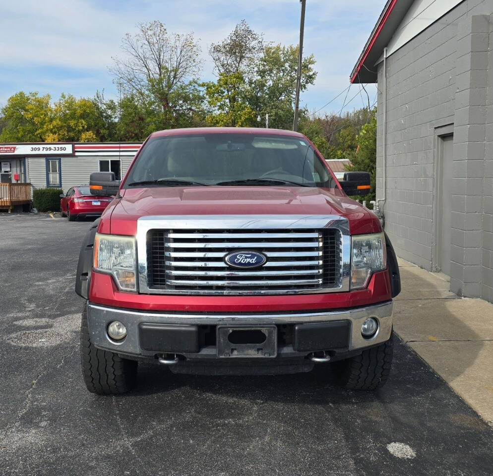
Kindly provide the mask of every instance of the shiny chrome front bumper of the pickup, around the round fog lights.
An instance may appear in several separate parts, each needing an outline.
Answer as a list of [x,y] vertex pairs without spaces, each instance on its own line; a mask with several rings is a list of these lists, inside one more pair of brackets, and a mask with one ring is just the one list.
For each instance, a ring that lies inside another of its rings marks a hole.
[[[267,325],[304,324],[347,320],[351,323],[348,352],[358,351],[387,341],[392,331],[392,301],[365,307],[338,311],[279,314],[183,314],[171,312],[145,312],[116,309],[88,303],[87,321],[91,342],[100,349],[136,357],[149,357],[139,343],[139,324],[182,324],[182,325]],[[361,335],[361,326],[367,317],[378,320],[379,327],[370,339]],[[122,342],[112,341],[106,332],[108,324],[118,320],[127,329]],[[294,352],[289,353],[293,356]],[[305,353],[307,354],[307,353]],[[186,355],[185,355],[186,357]],[[204,356],[205,357],[205,356]],[[213,357],[211,353],[208,357]]]

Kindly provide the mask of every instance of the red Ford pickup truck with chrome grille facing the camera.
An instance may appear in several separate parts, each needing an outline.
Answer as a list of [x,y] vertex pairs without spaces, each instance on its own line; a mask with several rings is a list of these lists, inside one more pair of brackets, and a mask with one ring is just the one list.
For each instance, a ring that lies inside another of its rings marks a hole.
[[153,133],[82,244],[82,371],[89,391],[136,383],[138,361],[173,373],[337,372],[375,389],[392,361],[400,277],[376,215],[348,195],[303,134],[255,128]]

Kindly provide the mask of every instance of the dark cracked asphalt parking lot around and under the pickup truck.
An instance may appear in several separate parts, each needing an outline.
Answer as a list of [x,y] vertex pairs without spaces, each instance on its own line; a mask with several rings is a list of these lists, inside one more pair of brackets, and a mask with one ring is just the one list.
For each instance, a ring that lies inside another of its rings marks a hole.
[[0,215],[1,475],[492,474],[493,428],[397,339],[373,393],[141,365],[133,393],[90,394],[73,291],[89,226]]

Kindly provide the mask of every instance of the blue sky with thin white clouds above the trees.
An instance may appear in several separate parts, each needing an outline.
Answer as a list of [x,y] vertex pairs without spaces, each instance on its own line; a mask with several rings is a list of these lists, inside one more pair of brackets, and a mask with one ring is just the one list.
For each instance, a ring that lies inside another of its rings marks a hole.
[[[313,53],[318,77],[301,97],[310,111],[349,85],[349,74],[370,35],[384,0],[307,0],[304,53]],[[297,44],[298,0],[0,0],[0,106],[19,91],[116,97],[108,73],[125,33],[139,22],[160,20],[170,32],[200,39],[202,78],[212,79],[207,51],[245,19],[267,41]],[[367,88],[370,102],[374,85]],[[362,107],[353,85],[347,108]],[[340,96],[321,112],[339,112]],[[365,101],[366,100],[366,95]]]

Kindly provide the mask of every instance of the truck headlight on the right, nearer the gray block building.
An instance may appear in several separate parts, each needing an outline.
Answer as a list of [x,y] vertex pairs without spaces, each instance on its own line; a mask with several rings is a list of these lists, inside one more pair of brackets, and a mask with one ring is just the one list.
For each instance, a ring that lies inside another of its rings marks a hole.
[[371,275],[386,267],[383,233],[351,237],[351,289],[365,288]]

